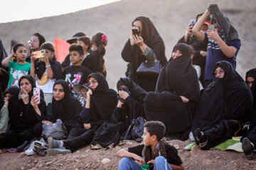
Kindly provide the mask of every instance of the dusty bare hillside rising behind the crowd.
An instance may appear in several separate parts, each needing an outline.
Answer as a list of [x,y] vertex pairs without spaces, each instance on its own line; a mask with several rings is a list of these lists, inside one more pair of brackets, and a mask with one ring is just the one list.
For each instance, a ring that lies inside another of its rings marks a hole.
[[124,77],[127,68],[121,52],[128,40],[134,18],[151,18],[164,39],[166,57],[169,59],[174,45],[185,33],[189,20],[206,11],[206,7],[213,3],[219,5],[238,30],[242,46],[238,52],[237,70],[245,77],[248,69],[256,67],[255,0],[122,0],[62,16],[0,23],[0,38],[7,52],[10,52],[11,39],[27,42],[36,32],[44,35],[47,41],[53,41],[53,38],[67,40],[80,31],[92,37],[101,30],[109,40],[105,55],[107,81],[115,89],[115,84],[119,77]]

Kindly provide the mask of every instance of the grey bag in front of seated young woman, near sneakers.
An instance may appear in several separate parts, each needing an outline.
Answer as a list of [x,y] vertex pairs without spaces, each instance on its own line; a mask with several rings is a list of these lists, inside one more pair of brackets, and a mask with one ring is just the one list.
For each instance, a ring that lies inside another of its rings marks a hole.
[[53,125],[43,125],[42,137],[47,139],[53,137],[53,140],[65,140],[68,137],[68,130],[60,119],[57,119]]

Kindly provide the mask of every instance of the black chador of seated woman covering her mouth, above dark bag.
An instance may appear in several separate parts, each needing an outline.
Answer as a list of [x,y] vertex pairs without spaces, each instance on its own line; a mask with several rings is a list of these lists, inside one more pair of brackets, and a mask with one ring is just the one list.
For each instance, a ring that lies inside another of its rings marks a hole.
[[115,108],[112,116],[115,117],[116,122],[122,121],[126,125],[130,125],[132,119],[136,119],[139,116],[145,117],[143,101],[146,91],[129,78],[120,78],[117,81],[117,91],[119,91],[119,86],[121,85],[127,86],[131,95],[124,100],[122,108]]

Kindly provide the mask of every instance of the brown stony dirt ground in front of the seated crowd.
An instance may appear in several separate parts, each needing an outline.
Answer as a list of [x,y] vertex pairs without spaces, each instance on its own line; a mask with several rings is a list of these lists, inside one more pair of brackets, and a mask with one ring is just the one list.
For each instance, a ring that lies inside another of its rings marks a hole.
[[[186,169],[256,169],[256,161],[248,161],[245,155],[234,151],[211,150],[203,151],[196,146],[191,151],[183,149],[190,141],[173,140],[169,142],[178,149],[183,166]],[[46,156],[26,156],[23,152],[14,154],[0,154],[0,169],[117,169],[119,158],[115,155],[117,150],[125,147],[139,145],[128,141],[122,147],[113,149],[91,150],[90,146],[83,147],[73,154]],[[102,164],[102,159],[110,159],[109,164]]]

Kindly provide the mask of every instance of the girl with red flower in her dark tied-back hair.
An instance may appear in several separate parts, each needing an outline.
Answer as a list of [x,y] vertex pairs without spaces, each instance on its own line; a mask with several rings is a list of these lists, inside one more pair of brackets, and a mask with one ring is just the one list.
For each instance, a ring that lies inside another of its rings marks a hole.
[[100,72],[107,76],[105,60],[103,59],[107,45],[107,36],[104,33],[96,33],[92,37],[92,52],[82,61],[82,66],[89,68],[92,72]]

